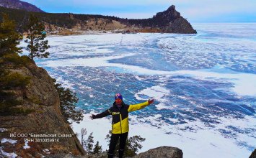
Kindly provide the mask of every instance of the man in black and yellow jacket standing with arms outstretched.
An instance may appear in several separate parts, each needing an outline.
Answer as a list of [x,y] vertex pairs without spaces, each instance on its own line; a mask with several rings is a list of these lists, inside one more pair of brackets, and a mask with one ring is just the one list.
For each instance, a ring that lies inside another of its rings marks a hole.
[[91,119],[100,119],[112,115],[112,135],[110,139],[110,149],[108,150],[108,158],[114,157],[115,146],[118,143],[119,138],[119,158],[123,158],[125,142],[129,131],[128,113],[145,108],[151,103],[154,103],[154,99],[144,103],[128,105],[123,102],[123,96],[120,93],[117,93],[115,94],[115,102],[111,108],[97,115],[90,116]]

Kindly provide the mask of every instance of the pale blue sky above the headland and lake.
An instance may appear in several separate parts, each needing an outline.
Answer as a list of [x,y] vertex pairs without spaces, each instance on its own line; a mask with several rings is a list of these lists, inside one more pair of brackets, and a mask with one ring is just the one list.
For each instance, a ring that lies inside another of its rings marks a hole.
[[51,13],[153,17],[174,4],[189,22],[256,22],[256,0],[22,0]]

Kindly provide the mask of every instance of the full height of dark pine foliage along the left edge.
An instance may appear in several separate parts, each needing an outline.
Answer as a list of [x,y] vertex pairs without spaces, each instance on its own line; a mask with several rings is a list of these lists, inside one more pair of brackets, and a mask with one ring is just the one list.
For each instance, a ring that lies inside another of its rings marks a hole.
[[14,21],[7,14],[2,14],[0,23],[0,116],[27,114],[30,109],[17,107],[21,101],[13,90],[24,89],[30,83],[30,78],[8,68],[27,62],[26,57],[19,57],[21,48],[17,47],[22,36],[16,32]]

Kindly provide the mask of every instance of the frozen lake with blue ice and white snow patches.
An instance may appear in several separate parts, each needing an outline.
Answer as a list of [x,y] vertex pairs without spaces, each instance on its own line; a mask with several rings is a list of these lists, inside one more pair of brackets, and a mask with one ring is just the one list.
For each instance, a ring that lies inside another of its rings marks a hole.
[[107,149],[112,106],[156,99],[130,113],[130,136],[144,152],[179,147],[184,157],[249,157],[256,148],[256,24],[193,24],[198,34],[90,34],[48,37],[50,57],[36,60],[79,96],[86,128]]

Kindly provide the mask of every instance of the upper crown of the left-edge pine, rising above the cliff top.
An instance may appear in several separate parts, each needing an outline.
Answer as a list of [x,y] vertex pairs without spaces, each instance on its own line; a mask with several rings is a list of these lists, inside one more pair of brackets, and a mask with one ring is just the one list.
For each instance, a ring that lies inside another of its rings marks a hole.
[[16,32],[16,25],[7,14],[2,14],[2,17],[0,24],[0,57],[9,53],[20,53],[21,48],[17,45],[22,40],[22,35]]

